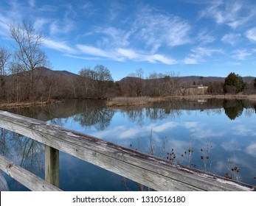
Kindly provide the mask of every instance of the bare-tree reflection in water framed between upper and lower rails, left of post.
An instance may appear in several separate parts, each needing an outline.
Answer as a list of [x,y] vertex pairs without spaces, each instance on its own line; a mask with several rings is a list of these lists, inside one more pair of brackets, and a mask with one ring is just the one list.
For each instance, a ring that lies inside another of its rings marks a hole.
[[44,145],[31,138],[7,129],[0,129],[0,147],[1,155],[12,159],[23,168],[32,172],[43,168],[41,155],[44,157]]

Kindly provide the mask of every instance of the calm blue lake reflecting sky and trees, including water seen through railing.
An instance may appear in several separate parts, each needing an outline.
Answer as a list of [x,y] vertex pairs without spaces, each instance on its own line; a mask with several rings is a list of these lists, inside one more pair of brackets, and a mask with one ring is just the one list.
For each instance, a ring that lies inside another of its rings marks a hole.
[[[202,171],[256,185],[256,102],[199,99],[139,107],[74,100],[9,109]],[[44,178],[44,145],[0,129],[1,155]],[[228,174],[226,174],[228,173]],[[4,172],[10,191],[27,191]],[[60,152],[63,191],[148,190],[136,182]]]

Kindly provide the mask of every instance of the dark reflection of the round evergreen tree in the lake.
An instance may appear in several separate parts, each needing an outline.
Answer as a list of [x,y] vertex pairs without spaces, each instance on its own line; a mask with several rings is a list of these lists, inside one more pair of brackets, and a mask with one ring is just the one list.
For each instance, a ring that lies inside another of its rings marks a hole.
[[223,103],[226,116],[231,120],[235,120],[238,116],[243,113],[243,102],[238,99],[225,99]]

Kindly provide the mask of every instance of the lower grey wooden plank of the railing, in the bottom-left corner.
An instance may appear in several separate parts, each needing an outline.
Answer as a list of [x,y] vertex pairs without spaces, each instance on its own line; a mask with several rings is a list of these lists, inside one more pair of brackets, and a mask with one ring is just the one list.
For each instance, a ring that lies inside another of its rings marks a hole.
[[6,157],[1,155],[0,168],[5,173],[9,174],[10,177],[13,177],[13,179],[21,182],[22,185],[26,186],[31,191],[61,191],[60,188],[46,182],[21,166],[16,166],[10,160],[7,160]]

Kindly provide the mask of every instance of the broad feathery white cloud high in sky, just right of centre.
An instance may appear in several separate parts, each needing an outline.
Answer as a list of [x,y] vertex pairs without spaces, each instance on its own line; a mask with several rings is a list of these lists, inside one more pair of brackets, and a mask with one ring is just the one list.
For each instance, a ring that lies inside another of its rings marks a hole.
[[161,46],[179,46],[190,43],[190,24],[172,15],[156,13],[150,7],[139,9],[133,25],[136,38],[156,51]]

